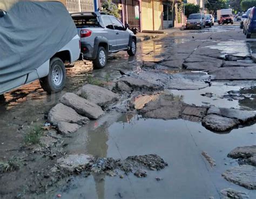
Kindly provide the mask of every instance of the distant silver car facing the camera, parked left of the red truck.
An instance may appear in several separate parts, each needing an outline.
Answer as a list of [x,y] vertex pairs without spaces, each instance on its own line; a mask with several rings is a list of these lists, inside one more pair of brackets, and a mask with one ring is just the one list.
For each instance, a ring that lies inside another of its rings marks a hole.
[[192,29],[192,28],[205,28],[205,15],[201,13],[197,14],[191,14],[188,16],[187,23],[186,23],[186,29]]

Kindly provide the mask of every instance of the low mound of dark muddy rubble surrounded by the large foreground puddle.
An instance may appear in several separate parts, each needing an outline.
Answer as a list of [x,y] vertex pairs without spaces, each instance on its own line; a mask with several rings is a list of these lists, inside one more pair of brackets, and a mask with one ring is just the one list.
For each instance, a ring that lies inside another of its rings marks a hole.
[[125,160],[113,159],[112,157],[94,158],[91,155],[75,154],[61,157],[57,160],[58,169],[53,171],[65,172],[82,172],[87,174],[106,174],[109,176],[117,176],[118,171],[123,171],[126,175],[133,173],[137,177],[146,177],[148,170],[161,170],[168,164],[158,155],[136,155],[129,156]]

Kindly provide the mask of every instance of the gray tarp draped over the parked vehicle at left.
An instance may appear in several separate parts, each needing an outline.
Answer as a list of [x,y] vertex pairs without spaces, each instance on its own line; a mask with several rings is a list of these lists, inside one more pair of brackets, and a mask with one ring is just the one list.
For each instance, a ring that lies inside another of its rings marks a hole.
[[18,2],[0,18],[0,84],[28,74],[77,35],[59,2]]

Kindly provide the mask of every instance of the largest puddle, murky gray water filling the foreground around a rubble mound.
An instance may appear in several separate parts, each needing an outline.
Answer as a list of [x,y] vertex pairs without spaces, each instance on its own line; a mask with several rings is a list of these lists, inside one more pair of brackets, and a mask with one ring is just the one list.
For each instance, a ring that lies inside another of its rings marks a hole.
[[[256,125],[253,125],[233,129],[227,134],[215,134],[201,123],[183,119],[165,121],[124,114],[105,116],[97,123],[92,122],[79,129],[67,147],[68,153],[116,159],[154,153],[163,157],[169,166],[140,179],[134,175],[124,175],[124,178],[79,175],[71,177],[68,183],[64,182],[53,195],[61,194],[67,199],[220,198],[219,191],[231,187],[254,198],[255,190],[248,192],[229,183],[221,177],[221,173],[238,165],[227,157],[230,150],[255,144],[255,129]],[[215,160],[216,166],[210,166],[201,155],[203,151]]]

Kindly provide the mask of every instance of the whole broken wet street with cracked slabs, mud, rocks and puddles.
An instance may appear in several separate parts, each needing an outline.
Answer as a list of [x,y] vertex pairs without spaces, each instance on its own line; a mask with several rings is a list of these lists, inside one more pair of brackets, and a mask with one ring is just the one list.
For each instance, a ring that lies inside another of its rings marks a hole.
[[5,94],[1,197],[256,197],[256,66],[223,27],[143,42],[92,74],[75,63],[54,99]]

